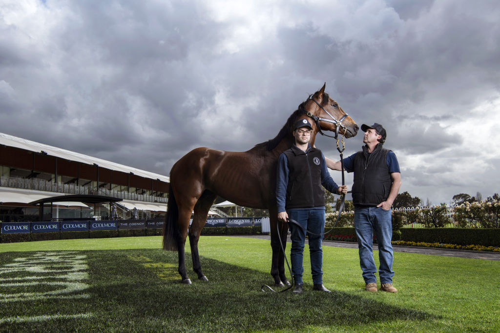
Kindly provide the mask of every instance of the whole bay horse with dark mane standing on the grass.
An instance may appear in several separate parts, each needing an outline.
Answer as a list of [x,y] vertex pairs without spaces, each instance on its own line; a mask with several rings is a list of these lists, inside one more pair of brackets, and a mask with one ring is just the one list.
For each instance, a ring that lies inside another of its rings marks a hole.
[[[280,246],[280,243],[286,245],[288,226],[287,223],[278,222],[275,198],[278,156],[294,143],[293,124],[299,119],[312,119],[309,121],[312,125],[311,146],[318,131],[321,134],[321,130],[336,131],[349,138],[355,136],[358,130],[352,118],[324,92],[325,85],[298,106],[273,139],[244,152],[196,148],[172,166],[163,225],[163,249],[178,252],[178,273],[182,283],[191,284],[184,258],[187,235],[193,271],[199,280],[208,281],[201,271],[198,240],[208,210],[219,195],[238,206],[269,210],[272,248],[270,273],[275,286],[290,284],[284,274],[284,254]],[[194,212],[194,216],[189,228],[191,212]],[[278,228],[281,237],[278,236]]]

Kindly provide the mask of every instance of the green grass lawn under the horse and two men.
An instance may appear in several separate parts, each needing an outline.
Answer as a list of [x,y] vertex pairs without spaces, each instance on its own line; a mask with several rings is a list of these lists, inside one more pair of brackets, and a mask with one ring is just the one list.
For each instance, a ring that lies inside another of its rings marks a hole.
[[[267,240],[201,237],[201,264],[210,281],[195,279],[186,246],[190,286],[179,283],[176,253],[160,246],[160,237],[0,244],[0,284],[4,284],[0,286],[0,331],[500,331],[498,261],[394,253],[394,286],[399,293],[367,293],[357,250],[323,246],[323,283],[332,290],[324,295],[310,291],[306,246],[305,291],[298,296],[290,291],[260,291],[261,285],[272,281]],[[42,258],[66,251],[86,257],[88,276],[79,281],[87,288],[60,298],[34,299],[30,294],[18,297],[24,300],[6,301],[12,294],[60,287],[17,285],[28,281],[26,277],[47,273],[1,269],[36,253],[41,254],[36,258]],[[8,286],[6,279],[10,279]]]

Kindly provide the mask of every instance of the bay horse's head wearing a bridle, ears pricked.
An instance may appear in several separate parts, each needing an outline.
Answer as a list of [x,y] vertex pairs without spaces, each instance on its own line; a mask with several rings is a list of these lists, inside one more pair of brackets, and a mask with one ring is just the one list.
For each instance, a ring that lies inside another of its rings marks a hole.
[[335,138],[338,133],[346,138],[355,136],[359,127],[340,105],[324,92],[325,86],[326,83],[300,105],[299,108],[305,113],[301,118],[309,118],[316,133],[326,135],[322,133],[322,130],[325,130],[334,132]]

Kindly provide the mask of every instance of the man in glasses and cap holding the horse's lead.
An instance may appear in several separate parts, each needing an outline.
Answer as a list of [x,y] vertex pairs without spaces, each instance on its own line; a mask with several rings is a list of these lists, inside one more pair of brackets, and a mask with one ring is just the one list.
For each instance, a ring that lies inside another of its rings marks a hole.
[[[293,293],[301,294],[305,230],[308,233],[313,290],[329,293],[323,286],[324,186],[331,193],[347,193],[347,186],[338,186],[326,168],[323,153],[309,144],[311,124],[306,119],[295,123],[292,132],[295,144],[278,158],[276,203],[278,220],[286,222],[291,232],[291,271],[295,282]],[[321,186],[322,185],[322,186]],[[302,228],[295,225],[296,221]]]

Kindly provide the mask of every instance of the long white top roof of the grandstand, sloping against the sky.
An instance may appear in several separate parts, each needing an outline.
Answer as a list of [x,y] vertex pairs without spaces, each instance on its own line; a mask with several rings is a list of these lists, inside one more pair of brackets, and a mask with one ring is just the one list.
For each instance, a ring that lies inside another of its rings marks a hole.
[[22,138],[18,138],[12,135],[0,133],[0,145],[16,147],[20,149],[25,149],[33,152],[45,152],[48,155],[56,156],[59,158],[64,158],[66,160],[81,162],[85,164],[97,164],[99,167],[103,167],[109,170],[121,171],[125,173],[133,173],[134,175],[151,178],[151,179],[159,179],[163,182],[170,182],[170,177],[163,176],[157,173],[144,171],[136,168],[132,168],[123,164],[118,164],[110,161],[106,161],[100,158],[83,155],[80,153],[76,153],[74,151],[57,148],[53,146],[49,146],[43,143],[34,142]]

